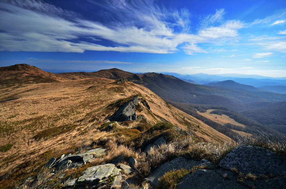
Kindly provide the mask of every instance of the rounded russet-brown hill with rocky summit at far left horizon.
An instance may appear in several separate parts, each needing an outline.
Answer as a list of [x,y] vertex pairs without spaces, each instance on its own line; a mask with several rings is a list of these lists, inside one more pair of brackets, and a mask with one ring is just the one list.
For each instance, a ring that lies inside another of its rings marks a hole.
[[0,85],[14,86],[29,83],[53,83],[66,81],[56,74],[45,72],[27,64],[0,67]]

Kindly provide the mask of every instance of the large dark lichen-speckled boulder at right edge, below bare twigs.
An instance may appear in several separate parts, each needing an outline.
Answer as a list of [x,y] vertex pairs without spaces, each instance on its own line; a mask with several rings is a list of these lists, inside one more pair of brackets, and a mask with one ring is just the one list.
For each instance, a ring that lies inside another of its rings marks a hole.
[[235,147],[221,160],[219,166],[229,170],[235,167],[244,174],[286,174],[285,156],[257,146]]

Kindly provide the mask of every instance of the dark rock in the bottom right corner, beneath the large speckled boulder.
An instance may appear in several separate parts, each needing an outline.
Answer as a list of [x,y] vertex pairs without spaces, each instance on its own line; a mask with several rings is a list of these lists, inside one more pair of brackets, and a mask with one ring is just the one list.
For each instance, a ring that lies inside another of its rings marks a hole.
[[244,184],[254,188],[263,188],[263,189],[283,189],[286,188],[286,177],[272,178],[272,179],[262,179],[262,180],[245,180]]

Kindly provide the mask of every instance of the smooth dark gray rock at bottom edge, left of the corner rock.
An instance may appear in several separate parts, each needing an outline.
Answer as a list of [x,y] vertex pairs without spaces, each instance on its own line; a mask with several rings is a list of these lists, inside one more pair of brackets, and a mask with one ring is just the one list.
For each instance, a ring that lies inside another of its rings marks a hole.
[[181,182],[177,185],[178,189],[189,188],[204,188],[204,189],[219,189],[219,188],[235,188],[246,189],[248,187],[238,183],[231,182],[223,179],[216,173],[215,170],[199,169],[192,174],[188,174],[182,178]]

